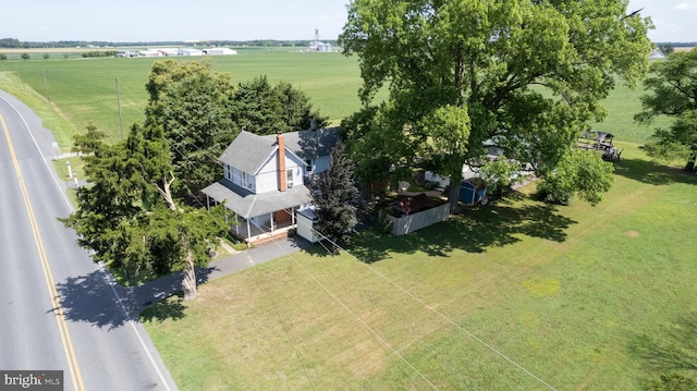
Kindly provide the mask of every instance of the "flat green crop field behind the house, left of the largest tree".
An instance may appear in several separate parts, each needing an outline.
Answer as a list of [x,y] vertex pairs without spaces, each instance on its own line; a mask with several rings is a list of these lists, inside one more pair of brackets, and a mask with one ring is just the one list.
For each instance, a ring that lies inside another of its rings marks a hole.
[[[303,90],[320,114],[339,124],[341,119],[358,110],[360,87],[358,60],[341,53],[313,53],[290,49],[236,49],[236,56],[176,57],[178,61],[209,59],[215,70],[229,73],[234,83],[267,75],[276,84],[285,81]],[[121,136],[119,100],[124,132],[131,124],[143,121],[147,103],[145,84],[155,61],[163,58],[82,59],[51,54],[42,60],[10,58],[0,62],[5,78],[16,76],[45,99],[45,105],[60,112],[74,129],[58,137],[61,147],[69,147],[74,132],[82,132],[93,122],[112,140]],[[119,94],[117,94],[117,81]],[[3,85],[0,84],[0,88]],[[50,100],[50,105],[49,105]],[[65,140],[68,145],[64,144]]]

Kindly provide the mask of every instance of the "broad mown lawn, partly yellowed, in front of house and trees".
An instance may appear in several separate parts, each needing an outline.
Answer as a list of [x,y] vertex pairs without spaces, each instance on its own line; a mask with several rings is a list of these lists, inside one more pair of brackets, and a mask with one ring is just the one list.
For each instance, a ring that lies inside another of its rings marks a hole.
[[697,343],[697,179],[626,148],[597,207],[523,188],[209,282],[145,326],[182,390],[640,389]]

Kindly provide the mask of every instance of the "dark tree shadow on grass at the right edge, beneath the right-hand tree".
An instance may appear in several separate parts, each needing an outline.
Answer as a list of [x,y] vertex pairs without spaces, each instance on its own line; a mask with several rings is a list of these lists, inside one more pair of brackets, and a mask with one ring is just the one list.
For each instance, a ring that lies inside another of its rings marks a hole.
[[622,159],[614,163],[614,173],[655,186],[672,183],[697,184],[697,175],[694,173],[643,159]]

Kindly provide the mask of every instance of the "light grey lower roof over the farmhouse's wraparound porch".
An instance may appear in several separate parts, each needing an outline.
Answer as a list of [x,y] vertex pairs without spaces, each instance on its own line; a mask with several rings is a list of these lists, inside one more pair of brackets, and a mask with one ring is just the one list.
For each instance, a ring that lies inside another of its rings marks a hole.
[[225,203],[228,209],[245,219],[297,207],[311,200],[309,190],[304,185],[293,186],[285,192],[254,194],[224,179],[204,188],[203,193],[218,203]]

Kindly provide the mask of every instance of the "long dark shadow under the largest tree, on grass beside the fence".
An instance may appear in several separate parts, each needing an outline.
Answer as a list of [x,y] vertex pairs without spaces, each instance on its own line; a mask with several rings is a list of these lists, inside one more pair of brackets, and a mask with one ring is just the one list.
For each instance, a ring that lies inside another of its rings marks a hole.
[[554,242],[566,240],[565,230],[576,221],[561,216],[557,207],[546,204],[518,205],[500,200],[464,209],[447,221],[405,236],[389,236],[376,231],[364,233],[350,251],[364,262],[384,259],[390,252],[429,256],[448,256],[454,249],[484,253],[487,248],[511,245],[519,235]]

